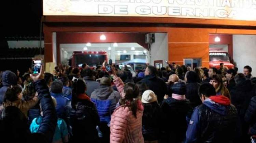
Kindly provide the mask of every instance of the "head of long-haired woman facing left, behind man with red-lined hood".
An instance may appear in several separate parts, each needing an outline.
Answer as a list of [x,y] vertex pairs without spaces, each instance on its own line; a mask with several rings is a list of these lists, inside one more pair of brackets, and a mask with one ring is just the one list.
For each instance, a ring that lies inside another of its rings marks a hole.
[[213,75],[209,83],[213,85],[217,95],[224,95],[230,99],[230,93],[228,89],[224,86],[221,75]]

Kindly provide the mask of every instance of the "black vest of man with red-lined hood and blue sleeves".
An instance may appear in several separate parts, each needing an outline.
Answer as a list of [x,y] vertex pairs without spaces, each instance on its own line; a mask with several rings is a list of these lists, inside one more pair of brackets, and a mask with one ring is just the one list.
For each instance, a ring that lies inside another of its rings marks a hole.
[[237,110],[226,106],[222,115],[202,104],[197,107],[200,116],[200,140],[198,143],[232,143],[237,121]]

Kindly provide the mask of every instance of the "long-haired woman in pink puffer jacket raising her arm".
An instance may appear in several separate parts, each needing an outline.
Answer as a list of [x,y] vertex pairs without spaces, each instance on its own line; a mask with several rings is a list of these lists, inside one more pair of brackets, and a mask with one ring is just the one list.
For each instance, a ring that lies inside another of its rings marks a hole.
[[143,143],[142,115],[143,105],[138,99],[139,88],[135,83],[123,81],[116,76],[112,68],[114,83],[121,93],[122,99],[111,116],[110,143]]

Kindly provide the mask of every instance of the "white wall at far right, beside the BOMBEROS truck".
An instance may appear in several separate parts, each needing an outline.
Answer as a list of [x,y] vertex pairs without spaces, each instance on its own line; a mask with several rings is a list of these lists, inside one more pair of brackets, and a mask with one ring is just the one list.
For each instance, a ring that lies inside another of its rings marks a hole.
[[252,75],[256,76],[256,35],[233,35],[233,57],[238,72],[243,72],[245,65],[252,67]]

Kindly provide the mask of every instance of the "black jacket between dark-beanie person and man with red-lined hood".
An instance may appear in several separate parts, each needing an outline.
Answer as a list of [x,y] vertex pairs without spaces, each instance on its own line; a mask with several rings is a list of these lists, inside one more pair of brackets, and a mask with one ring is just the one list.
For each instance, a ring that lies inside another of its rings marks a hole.
[[200,84],[197,82],[188,82],[186,84],[186,99],[190,101],[192,108],[202,104],[202,101],[198,95],[199,86]]

